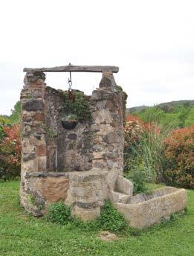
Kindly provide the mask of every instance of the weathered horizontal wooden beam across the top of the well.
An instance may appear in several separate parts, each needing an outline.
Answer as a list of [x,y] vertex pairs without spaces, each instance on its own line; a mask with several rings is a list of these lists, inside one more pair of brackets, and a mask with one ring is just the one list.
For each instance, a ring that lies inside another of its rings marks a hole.
[[117,73],[119,67],[114,65],[62,65],[54,68],[24,68],[24,72],[42,71],[42,72],[103,72],[111,71]]

